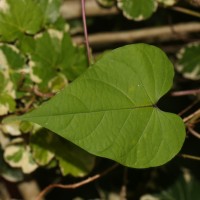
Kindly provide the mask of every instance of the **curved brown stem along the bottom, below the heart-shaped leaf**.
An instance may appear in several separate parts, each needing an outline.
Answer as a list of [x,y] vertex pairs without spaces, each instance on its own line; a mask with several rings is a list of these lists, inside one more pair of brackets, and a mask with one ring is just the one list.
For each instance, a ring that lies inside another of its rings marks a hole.
[[51,189],[53,188],[62,188],[62,189],[76,189],[76,188],[79,188],[83,185],[86,185],[90,182],[93,182],[103,176],[105,176],[106,174],[108,174],[109,172],[111,172],[112,170],[114,170],[116,167],[118,167],[119,164],[115,164],[113,166],[111,166],[110,168],[106,169],[105,171],[103,171],[102,173],[100,174],[96,174],[92,177],[88,177],[87,179],[83,180],[83,181],[80,181],[78,183],[74,183],[74,184],[68,184],[68,185],[63,185],[63,184],[51,184],[49,186],[47,186],[44,190],[42,190],[40,192],[40,194],[37,196],[36,200],[42,200],[42,198],[45,196],[45,194],[47,192],[49,192]]

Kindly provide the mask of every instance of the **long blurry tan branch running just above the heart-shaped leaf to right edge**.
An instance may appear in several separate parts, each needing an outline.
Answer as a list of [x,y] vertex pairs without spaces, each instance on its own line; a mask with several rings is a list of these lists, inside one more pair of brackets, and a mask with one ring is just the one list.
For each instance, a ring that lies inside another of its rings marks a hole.
[[[178,34],[189,34],[200,32],[199,22],[181,23],[173,26],[173,30]],[[131,30],[122,32],[104,32],[89,35],[88,37],[91,46],[102,46],[102,44],[113,43],[131,43],[134,41],[170,41],[172,39],[180,39],[177,34],[172,32],[171,26],[161,26],[156,28],[144,28],[142,30]],[[81,44],[84,38],[74,36],[73,41]]]

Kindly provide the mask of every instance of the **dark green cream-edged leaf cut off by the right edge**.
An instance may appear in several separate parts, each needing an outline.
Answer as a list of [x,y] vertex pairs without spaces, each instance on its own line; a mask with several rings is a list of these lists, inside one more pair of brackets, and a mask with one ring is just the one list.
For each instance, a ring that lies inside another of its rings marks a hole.
[[200,79],[200,43],[191,43],[182,48],[177,54],[177,70],[185,78],[192,80]]

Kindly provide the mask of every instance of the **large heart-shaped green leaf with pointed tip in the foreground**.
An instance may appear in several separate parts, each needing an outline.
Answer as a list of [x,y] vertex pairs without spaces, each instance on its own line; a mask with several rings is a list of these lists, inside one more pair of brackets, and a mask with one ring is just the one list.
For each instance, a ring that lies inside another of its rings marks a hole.
[[156,107],[174,69],[158,48],[136,44],[104,54],[50,101],[20,117],[125,166],[162,165],[181,149],[182,119]]

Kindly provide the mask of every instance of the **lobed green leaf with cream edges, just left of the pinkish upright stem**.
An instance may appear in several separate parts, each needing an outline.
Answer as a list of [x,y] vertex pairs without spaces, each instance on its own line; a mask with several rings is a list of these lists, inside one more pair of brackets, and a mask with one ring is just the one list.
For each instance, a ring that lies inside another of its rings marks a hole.
[[35,49],[30,51],[32,80],[45,91],[56,75],[63,73],[73,80],[86,70],[85,51],[72,44],[68,33],[48,30],[35,39]]

